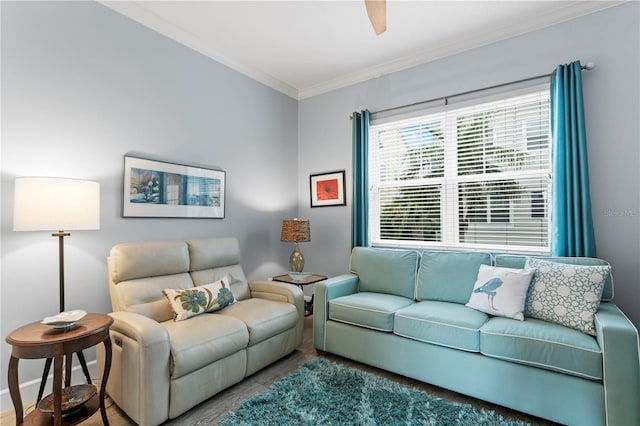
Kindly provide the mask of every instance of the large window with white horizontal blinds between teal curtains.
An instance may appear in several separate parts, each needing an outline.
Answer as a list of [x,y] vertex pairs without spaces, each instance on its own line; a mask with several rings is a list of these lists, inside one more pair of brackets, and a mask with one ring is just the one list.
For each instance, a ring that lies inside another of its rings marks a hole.
[[373,245],[548,251],[549,90],[369,129]]

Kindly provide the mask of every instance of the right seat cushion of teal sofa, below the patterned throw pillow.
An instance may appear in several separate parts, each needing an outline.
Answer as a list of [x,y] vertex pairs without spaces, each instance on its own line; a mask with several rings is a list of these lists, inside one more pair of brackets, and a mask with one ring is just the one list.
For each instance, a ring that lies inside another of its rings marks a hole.
[[593,380],[602,379],[602,351],[594,337],[561,325],[495,317],[480,329],[484,355]]

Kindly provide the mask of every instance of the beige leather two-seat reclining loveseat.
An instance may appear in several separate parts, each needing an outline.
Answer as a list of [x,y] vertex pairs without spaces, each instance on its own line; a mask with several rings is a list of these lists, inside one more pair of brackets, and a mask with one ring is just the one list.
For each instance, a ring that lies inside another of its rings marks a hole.
[[[111,249],[114,323],[107,393],[136,423],[175,418],[302,343],[300,289],[248,283],[239,261],[235,238],[135,242]],[[173,320],[164,289],[188,289],[225,276],[236,303]],[[99,349],[99,371],[104,355]]]

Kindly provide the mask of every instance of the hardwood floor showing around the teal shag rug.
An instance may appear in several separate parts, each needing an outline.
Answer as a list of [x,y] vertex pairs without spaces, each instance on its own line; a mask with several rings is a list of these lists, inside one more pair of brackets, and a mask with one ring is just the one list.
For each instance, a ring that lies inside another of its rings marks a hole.
[[[272,383],[283,378],[287,374],[296,370],[303,363],[317,357],[316,351],[313,347],[313,317],[305,318],[305,332],[304,340],[300,348],[293,352],[291,355],[277,361],[271,366],[257,372],[251,377],[246,378],[242,382],[220,392],[218,395],[208,399],[197,407],[192,408],[182,416],[169,420],[164,425],[166,426],[192,426],[192,425],[213,425],[217,424],[220,420],[225,418],[230,411],[236,410],[242,401],[253,397],[266,390]],[[436,386],[431,386],[413,379],[409,379],[397,374],[389,373],[377,368],[369,367],[351,361],[345,358],[341,358],[335,355],[328,354],[328,359],[355,368],[359,368],[364,371],[368,371],[377,374],[382,377],[403,383],[407,386],[422,389],[433,395],[437,395],[441,398],[445,398],[451,401],[457,401],[462,403],[472,404],[476,408],[485,408],[493,410],[502,416],[512,419],[521,420],[531,423],[532,425],[553,425],[554,423],[544,421],[535,417],[527,416],[525,414],[512,411],[500,406],[489,404],[483,401],[479,401],[474,398],[469,398],[460,395],[455,392],[451,392]],[[107,400],[107,416],[111,426],[129,426],[134,424],[116,405],[112,404],[111,400]],[[27,406],[27,412],[33,410],[33,404]],[[13,425],[15,424],[15,415],[13,411],[6,411],[0,416],[0,425]],[[86,426],[99,426],[102,424],[100,413],[94,414],[83,425]],[[283,425],[284,426],[284,425]]]

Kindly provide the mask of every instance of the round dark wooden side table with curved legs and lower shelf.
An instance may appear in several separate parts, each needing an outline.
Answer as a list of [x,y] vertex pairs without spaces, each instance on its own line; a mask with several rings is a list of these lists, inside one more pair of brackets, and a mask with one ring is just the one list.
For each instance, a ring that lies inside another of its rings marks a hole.
[[[23,423],[30,425],[54,426],[73,425],[91,417],[100,408],[102,422],[109,424],[104,398],[106,395],[107,379],[111,369],[111,339],[109,327],[113,318],[105,314],[87,314],[76,321],[73,328],[56,329],[49,325],[34,322],[12,331],[5,339],[11,348],[9,360],[9,393],[16,411],[16,425]],[[105,364],[102,373],[102,383],[98,399],[92,397],[77,412],[63,417],[62,412],[62,376],[63,360],[67,357],[67,374],[65,386],[71,382],[71,357],[102,342],[105,348]],[[23,418],[22,397],[18,382],[18,361],[20,359],[53,359],[53,413],[45,413],[34,409]]]

